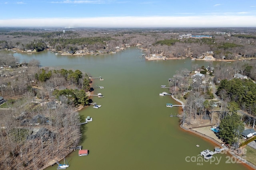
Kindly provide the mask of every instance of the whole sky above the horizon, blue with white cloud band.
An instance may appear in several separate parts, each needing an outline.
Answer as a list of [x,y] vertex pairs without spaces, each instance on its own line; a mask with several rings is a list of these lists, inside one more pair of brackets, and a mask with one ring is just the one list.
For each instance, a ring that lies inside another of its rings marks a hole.
[[0,0],[0,26],[256,27],[256,0]]

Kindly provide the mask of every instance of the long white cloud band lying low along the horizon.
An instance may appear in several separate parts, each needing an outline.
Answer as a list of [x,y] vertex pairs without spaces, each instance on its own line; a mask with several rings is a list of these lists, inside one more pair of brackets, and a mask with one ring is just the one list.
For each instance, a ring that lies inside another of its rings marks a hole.
[[30,18],[0,20],[1,26],[29,27],[256,27],[256,16]]

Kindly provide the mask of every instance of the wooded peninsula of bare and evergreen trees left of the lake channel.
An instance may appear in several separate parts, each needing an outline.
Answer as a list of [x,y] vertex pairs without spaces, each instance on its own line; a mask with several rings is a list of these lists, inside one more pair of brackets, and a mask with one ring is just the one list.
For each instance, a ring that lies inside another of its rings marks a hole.
[[[1,56],[6,60],[14,59]],[[42,169],[84,139],[77,110],[91,102],[90,77],[38,64],[2,69],[8,77],[1,77],[0,90],[8,101],[0,111],[0,169]]]

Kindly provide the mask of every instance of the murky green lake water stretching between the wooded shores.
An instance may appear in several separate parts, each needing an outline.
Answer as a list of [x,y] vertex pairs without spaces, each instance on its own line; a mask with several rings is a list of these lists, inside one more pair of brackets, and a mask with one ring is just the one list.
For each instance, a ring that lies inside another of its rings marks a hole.
[[[167,89],[168,78],[176,70],[192,64],[208,66],[204,61],[167,60],[146,61],[142,52],[134,47],[111,55],[64,56],[44,51],[37,54],[15,53],[21,61],[38,59],[42,66],[57,69],[81,70],[104,81],[93,80],[94,93],[104,98],[93,97],[102,105],[99,109],[88,106],[80,114],[93,118],[85,126],[85,140],[80,143],[89,150],[88,156],[78,156],[78,150],[66,156],[68,170],[246,170],[243,164],[228,154],[216,154],[206,162],[199,156],[205,149],[214,150],[213,143],[188,133],[179,127],[179,119],[170,117],[178,113],[170,96],[159,96]],[[200,147],[196,147],[200,145]],[[217,160],[218,159],[218,160]],[[60,161],[63,163],[63,160]],[[56,170],[57,165],[47,168]]]

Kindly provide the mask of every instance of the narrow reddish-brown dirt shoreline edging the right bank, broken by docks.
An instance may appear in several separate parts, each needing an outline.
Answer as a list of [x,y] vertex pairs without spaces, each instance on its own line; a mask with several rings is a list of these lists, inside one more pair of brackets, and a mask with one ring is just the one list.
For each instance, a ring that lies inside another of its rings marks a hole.
[[[172,95],[172,98],[176,101],[176,102],[179,102],[180,104],[184,105],[184,103],[180,100],[178,100],[177,98],[175,98],[173,95]],[[182,113],[182,110],[179,110],[179,114]],[[215,139],[207,136],[206,134],[203,134],[203,133],[200,133],[200,132],[197,132],[197,131],[194,131],[192,129],[187,129],[186,127],[182,126],[182,124],[180,123],[180,128],[182,129],[182,131],[186,131],[188,133],[192,133],[196,136],[199,136],[201,137],[202,139],[210,142],[210,143],[213,143],[215,145],[218,145],[219,147],[221,147],[222,143],[216,141]],[[251,170],[256,170],[256,165],[248,162],[247,160],[241,158],[239,155],[235,154],[232,150],[228,149],[228,154],[230,154],[231,156],[234,156],[238,161],[240,161],[242,164],[244,164],[244,166],[246,166],[247,168],[251,169]]]

